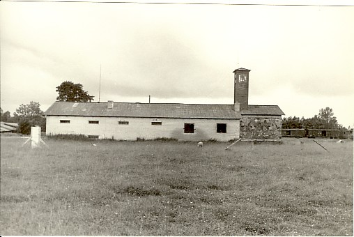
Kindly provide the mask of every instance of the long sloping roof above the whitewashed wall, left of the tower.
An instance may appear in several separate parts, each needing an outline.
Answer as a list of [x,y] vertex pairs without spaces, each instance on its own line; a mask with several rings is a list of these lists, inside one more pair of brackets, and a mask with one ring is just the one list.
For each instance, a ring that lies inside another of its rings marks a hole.
[[[76,105],[73,107],[73,105]],[[59,102],[47,109],[47,116],[109,116],[137,118],[176,119],[241,119],[233,105],[200,104],[151,104],[114,102],[112,109],[107,102]]]

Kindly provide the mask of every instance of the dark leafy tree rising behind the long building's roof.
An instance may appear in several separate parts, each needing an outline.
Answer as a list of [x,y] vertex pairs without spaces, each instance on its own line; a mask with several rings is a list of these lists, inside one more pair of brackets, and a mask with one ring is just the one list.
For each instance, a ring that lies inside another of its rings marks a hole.
[[82,89],[82,84],[74,84],[73,82],[63,82],[60,86],[56,86],[56,92],[59,93],[56,100],[69,102],[91,102],[93,95],[89,95],[87,91]]

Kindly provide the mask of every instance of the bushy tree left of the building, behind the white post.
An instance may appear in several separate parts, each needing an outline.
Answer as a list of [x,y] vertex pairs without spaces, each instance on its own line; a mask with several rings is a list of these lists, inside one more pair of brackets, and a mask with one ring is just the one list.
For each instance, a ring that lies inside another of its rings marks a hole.
[[29,134],[32,126],[40,126],[41,130],[45,131],[45,116],[40,110],[40,103],[31,101],[29,105],[20,105],[16,112],[13,113],[19,121],[19,132]]

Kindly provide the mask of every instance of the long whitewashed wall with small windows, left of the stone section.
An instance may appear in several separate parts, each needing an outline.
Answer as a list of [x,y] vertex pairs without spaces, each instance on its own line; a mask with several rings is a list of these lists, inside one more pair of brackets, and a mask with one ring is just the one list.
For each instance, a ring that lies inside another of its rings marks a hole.
[[[70,123],[60,123],[60,120],[70,120]],[[89,124],[88,121],[99,121],[99,124]],[[129,121],[129,125],[118,125],[118,121]],[[152,121],[161,121],[162,125],[151,125]],[[194,133],[184,133],[184,123],[194,123]],[[226,133],[216,132],[217,123],[226,123]],[[98,135],[100,139],[113,137],[118,140],[167,137],[183,141],[217,139],[227,142],[240,137],[240,120],[47,116],[46,133]]]

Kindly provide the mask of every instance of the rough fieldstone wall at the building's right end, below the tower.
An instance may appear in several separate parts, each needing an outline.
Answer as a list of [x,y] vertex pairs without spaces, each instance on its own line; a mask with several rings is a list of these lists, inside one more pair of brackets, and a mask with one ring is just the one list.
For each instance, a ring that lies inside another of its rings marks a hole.
[[243,115],[240,138],[278,139],[282,137],[282,116]]

